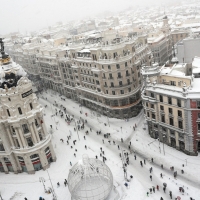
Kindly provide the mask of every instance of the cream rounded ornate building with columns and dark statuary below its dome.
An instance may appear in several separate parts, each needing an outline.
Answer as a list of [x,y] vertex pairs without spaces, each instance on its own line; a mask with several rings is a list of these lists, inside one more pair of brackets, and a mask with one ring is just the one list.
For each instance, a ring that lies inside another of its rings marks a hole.
[[34,173],[56,161],[51,135],[31,81],[0,43],[0,171]]

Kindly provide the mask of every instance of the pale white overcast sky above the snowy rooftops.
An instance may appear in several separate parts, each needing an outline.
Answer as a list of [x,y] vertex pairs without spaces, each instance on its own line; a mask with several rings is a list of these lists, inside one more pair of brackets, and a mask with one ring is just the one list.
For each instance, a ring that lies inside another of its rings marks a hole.
[[[58,21],[67,22],[129,6],[160,5],[173,0],[0,0],[0,35],[38,31]],[[177,0],[175,0],[177,1]]]

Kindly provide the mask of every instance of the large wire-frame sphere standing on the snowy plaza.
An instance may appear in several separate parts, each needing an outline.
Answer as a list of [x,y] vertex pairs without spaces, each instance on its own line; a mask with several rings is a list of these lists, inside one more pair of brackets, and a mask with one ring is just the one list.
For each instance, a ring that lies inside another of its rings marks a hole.
[[108,166],[87,155],[83,155],[68,175],[72,200],[105,200],[112,187],[113,176]]

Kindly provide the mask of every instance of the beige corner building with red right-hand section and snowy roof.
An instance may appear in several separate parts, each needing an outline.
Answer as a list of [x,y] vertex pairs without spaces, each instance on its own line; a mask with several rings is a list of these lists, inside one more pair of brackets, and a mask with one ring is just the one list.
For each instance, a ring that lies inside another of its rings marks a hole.
[[194,68],[183,63],[142,69],[142,101],[150,136],[189,155],[200,151],[200,78],[195,76],[200,65]]

